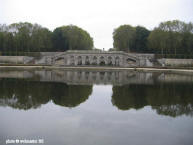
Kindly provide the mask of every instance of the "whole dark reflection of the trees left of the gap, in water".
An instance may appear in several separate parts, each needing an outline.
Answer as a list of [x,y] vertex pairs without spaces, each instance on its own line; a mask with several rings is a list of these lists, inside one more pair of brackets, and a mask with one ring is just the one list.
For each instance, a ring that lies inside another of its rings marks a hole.
[[37,108],[51,99],[58,105],[75,107],[86,101],[91,93],[92,86],[70,86],[18,79],[0,81],[0,105],[25,110]]

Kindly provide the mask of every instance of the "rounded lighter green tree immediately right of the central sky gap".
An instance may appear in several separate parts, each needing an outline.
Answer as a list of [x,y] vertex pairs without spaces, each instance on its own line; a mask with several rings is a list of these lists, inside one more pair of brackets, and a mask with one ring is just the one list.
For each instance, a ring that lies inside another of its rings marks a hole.
[[113,32],[113,46],[116,50],[129,52],[135,41],[135,28],[122,25]]

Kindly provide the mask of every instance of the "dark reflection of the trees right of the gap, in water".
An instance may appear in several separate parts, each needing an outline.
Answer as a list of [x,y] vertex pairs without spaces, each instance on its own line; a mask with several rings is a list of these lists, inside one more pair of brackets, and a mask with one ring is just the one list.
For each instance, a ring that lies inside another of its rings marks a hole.
[[114,86],[112,103],[121,110],[151,105],[158,114],[193,115],[193,84]]

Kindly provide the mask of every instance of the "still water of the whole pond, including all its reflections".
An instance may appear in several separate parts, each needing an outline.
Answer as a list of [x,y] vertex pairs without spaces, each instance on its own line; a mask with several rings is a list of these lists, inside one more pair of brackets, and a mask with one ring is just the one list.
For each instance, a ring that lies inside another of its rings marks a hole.
[[193,75],[0,71],[0,144],[192,145]]

